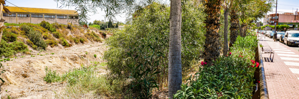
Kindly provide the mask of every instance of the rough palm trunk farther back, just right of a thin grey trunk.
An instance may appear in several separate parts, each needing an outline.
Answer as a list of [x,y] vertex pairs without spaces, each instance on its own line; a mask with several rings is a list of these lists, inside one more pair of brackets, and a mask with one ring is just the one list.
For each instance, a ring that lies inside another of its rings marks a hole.
[[230,17],[231,17],[231,27],[229,28],[229,30],[231,31],[231,35],[230,35],[230,42],[229,42],[229,47],[232,47],[235,40],[238,37],[238,30],[239,30],[239,17],[236,14],[235,10],[231,10],[230,12]]

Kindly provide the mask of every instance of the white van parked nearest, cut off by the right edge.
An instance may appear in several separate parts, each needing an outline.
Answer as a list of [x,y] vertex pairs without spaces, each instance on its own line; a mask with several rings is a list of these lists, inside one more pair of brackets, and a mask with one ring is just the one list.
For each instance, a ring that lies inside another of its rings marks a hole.
[[283,43],[286,45],[299,45],[299,31],[286,31]]

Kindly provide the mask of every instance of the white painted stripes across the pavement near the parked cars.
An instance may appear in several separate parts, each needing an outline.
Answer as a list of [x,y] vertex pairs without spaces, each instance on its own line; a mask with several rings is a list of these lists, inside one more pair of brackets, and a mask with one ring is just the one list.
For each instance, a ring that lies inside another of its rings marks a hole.
[[[288,50],[288,48],[283,47],[282,45],[280,45],[281,43],[279,42],[267,41],[267,43],[274,50],[274,52],[277,53],[278,56],[280,56],[280,59],[293,61],[293,62],[284,62],[286,65],[299,66],[299,62],[298,62],[299,55],[296,55],[291,50]],[[289,68],[289,69],[292,71],[292,73],[299,74],[299,69],[296,68]]]

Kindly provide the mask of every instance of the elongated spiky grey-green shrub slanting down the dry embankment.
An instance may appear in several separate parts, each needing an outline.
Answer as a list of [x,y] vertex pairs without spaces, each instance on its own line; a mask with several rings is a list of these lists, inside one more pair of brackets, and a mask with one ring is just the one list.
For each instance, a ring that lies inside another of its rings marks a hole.
[[33,49],[46,49],[47,48],[47,44],[46,42],[43,40],[42,38],[42,34],[40,32],[37,32],[37,31],[34,31],[32,27],[30,26],[27,26],[27,25],[22,25],[21,27],[24,32],[25,32],[25,35],[28,36],[29,40],[37,46],[34,47]]

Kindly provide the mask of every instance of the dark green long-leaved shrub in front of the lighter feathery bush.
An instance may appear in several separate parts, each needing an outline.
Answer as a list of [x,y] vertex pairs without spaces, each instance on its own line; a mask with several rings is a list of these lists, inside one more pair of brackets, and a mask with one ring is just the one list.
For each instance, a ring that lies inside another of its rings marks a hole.
[[[148,47],[151,50],[149,51],[150,55],[146,55],[149,52],[144,52],[144,47]],[[159,65],[159,60],[155,60],[157,57],[165,57],[161,52],[155,51],[155,48],[151,46],[151,44],[145,46],[142,45],[138,51],[140,54],[145,54],[145,57],[141,57],[142,59],[136,60],[139,55],[134,54],[136,49],[130,50],[127,54],[129,55],[131,64],[127,65],[129,67],[130,73],[130,90],[136,94],[137,99],[149,99],[152,97],[152,89],[158,88],[158,83],[155,79],[155,75],[160,73],[161,71],[157,71],[157,67]]]

